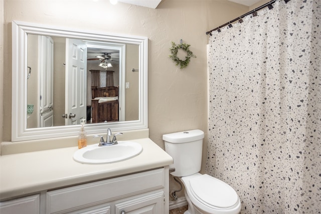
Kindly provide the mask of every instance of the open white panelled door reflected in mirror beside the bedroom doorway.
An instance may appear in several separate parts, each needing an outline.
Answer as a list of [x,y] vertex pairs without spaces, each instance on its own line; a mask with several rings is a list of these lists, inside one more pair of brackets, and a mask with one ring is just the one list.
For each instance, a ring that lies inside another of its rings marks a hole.
[[65,125],[86,119],[87,46],[80,40],[66,39]]

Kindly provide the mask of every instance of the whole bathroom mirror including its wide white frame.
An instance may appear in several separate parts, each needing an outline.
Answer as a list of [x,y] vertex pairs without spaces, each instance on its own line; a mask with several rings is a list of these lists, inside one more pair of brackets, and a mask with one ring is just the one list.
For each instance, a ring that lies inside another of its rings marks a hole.
[[[86,121],[88,134],[103,133],[107,128],[112,131],[147,128],[147,38],[20,21],[13,21],[12,29],[12,141],[77,135],[82,119]],[[78,42],[81,42],[80,48],[73,49]],[[83,68],[77,62],[74,65],[72,57],[68,61],[70,55],[83,59]],[[51,60],[53,58],[55,60]],[[99,64],[103,67],[97,66]],[[98,86],[91,79],[97,72],[102,79]],[[128,88],[135,89],[128,92]],[[78,97],[71,96],[70,91]],[[71,100],[71,109],[67,109],[68,100]],[[73,111],[77,105],[85,109],[84,114]],[[103,114],[98,109],[104,106],[113,109],[112,119],[96,116],[93,120],[93,115]],[[55,113],[46,117],[46,112]]]

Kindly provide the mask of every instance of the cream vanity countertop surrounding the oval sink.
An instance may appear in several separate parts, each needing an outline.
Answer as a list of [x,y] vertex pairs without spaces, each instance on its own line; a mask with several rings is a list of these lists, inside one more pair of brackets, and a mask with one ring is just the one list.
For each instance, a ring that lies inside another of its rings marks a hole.
[[78,147],[3,155],[0,157],[0,200],[173,163],[173,158],[149,138],[133,141],[141,144],[143,151],[133,158],[116,163],[78,163],[73,159]]

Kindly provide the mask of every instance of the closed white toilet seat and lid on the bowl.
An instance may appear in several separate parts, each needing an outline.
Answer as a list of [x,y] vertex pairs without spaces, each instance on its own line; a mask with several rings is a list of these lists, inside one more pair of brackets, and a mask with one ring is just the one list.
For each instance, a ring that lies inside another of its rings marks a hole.
[[198,176],[190,177],[188,182],[190,184],[189,190],[193,197],[209,208],[227,211],[240,205],[239,197],[235,190],[215,177],[208,174],[199,174]]

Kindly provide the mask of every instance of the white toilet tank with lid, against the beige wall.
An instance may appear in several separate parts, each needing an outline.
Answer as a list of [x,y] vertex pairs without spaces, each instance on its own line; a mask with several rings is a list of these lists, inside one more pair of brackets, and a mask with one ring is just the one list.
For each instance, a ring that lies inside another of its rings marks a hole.
[[201,170],[203,138],[199,129],[163,135],[165,151],[174,159],[172,175],[183,177]]

